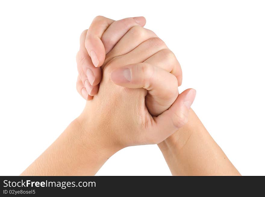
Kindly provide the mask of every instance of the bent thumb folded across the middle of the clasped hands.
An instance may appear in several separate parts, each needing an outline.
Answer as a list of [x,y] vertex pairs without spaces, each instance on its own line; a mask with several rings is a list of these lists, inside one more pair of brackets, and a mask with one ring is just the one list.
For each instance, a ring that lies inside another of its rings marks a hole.
[[146,106],[151,115],[157,116],[176,100],[178,81],[164,69],[148,63],[130,64],[111,73],[111,80],[127,88],[145,88]]

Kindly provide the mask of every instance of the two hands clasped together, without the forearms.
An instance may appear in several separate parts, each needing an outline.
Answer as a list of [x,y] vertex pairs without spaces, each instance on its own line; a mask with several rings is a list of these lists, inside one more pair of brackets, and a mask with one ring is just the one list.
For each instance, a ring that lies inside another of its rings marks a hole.
[[144,24],[99,16],[81,34],[77,90],[89,101],[79,120],[98,144],[157,144],[188,120],[195,90],[179,94],[179,62]]

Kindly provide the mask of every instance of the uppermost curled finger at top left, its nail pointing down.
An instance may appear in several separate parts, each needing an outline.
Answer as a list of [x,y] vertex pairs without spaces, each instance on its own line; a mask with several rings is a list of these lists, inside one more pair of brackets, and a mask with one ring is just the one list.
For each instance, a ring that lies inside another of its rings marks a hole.
[[106,53],[101,36],[113,22],[114,20],[112,19],[97,16],[87,31],[85,47],[95,67],[101,66],[104,63]]

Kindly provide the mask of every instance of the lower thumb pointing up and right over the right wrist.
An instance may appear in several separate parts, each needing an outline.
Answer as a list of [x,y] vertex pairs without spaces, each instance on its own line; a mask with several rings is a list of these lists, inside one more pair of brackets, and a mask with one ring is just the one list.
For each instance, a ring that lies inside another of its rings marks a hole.
[[154,143],[160,143],[161,139],[166,139],[188,122],[189,109],[195,95],[194,89],[183,91],[168,110],[154,117],[153,129],[151,129],[153,137],[151,140]]

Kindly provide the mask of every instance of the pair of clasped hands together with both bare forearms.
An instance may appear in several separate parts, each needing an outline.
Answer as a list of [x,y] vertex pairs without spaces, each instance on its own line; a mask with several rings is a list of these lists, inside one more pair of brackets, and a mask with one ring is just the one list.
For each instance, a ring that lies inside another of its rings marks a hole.
[[94,175],[118,150],[154,143],[173,175],[240,175],[190,109],[195,90],[178,93],[176,57],[144,25],[96,17],[81,34],[76,87],[90,101],[22,175]]

